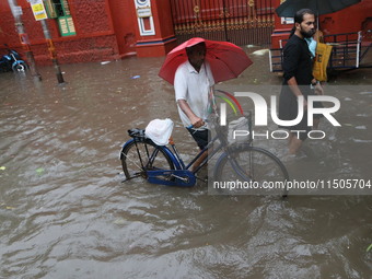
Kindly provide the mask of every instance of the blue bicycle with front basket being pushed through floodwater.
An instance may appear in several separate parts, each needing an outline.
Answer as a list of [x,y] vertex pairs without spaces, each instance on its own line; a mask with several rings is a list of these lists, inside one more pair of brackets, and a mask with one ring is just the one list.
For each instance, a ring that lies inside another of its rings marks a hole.
[[[251,113],[245,117],[248,123],[248,135],[252,135]],[[216,121],[214,129],[216,136],[187,165],[182,160],[172,137],[170,144],[173,152],[166,146],[158,146],[147,138],[143,129],[128,130],[131,139],[125,142],[120,152],[126,176],[124,182],[142,177],[153,184],[190,187],[199,178],[196,174],[220,151],[222,154],[219,155],[213,167],[214,181],[231,181],[233,175],[242,182],[255,182],[258,185],[272,181],[282,182],[284,185],[284,182],[289,181],[288,171],[282,162],[268,150],[253,147],[252,137],[245,143],[229,144],[226,127]],[[194,162],[207,150],[210,150],[207,159],[195,171],[190,171]],[[287,195],[288,188],[283,186],[281,196],[287,197]]]

